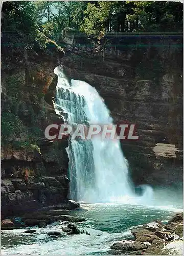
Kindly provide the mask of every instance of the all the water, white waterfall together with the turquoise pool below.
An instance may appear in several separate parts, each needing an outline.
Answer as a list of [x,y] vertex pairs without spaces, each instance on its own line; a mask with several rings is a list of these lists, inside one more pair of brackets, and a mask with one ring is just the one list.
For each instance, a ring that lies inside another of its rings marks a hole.
[[[112,118],[103,99],[88,83],[68,82],[62,67],[57,67],[56,113],[64,122],[78,124],[110,124]],[[2,231],[3,255],[107,255],[114,241],[132,239],[131,229],[159,219],[166,223],[174,211],[182,211],[182,191],[142,186],[142,195],[134,193],[128,178],[128,164],[118,140],[70,140],[70,198],[83,201],[81,207],[68,214],[85,218],[76,224],[90,233],[68,236],[62,231],[63,222],[55,222],[33,234],[25,229]],[[27,228],[29,229],[29,228]],[[52,237],[49,231],[59,231]],[[180,253],[180,252],[179,252]],[[181,254],[181,253],[180,253]]]

